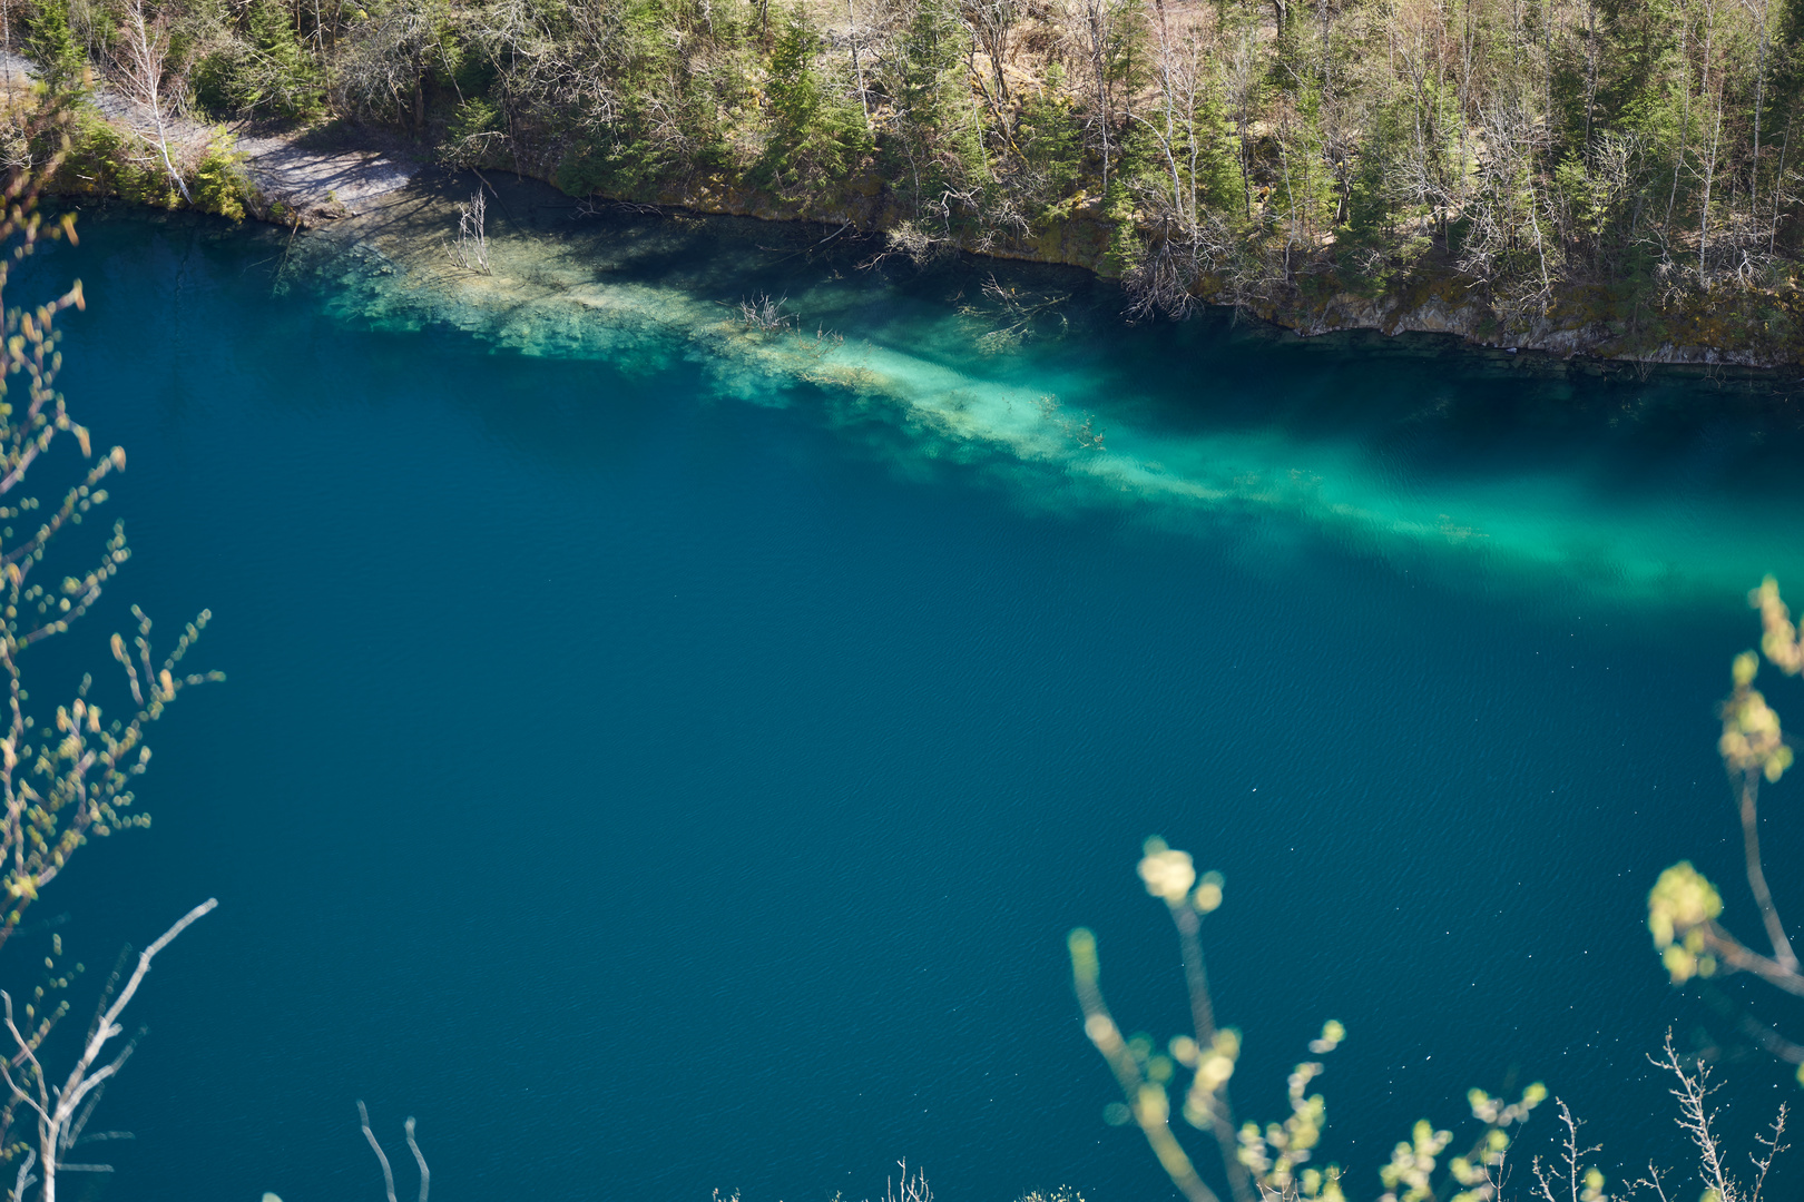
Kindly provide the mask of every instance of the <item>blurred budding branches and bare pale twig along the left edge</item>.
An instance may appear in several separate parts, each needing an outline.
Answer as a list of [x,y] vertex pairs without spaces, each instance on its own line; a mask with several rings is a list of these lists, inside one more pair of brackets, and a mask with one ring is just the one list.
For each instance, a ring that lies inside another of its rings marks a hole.
[[[152,36],[143,27],[139,32]],[[36,128],[32,137],[61,139],[56,114],[43,121],[47,124]],[[67,139],[61,144],[67,146]],[[130,647],[121,634],[110,640],[112,656],[123,670],[121,683],[130,694],[130,705],[121,706],[124,719],[103,717],[103,706],[92,696],[92,676],[83,676],[74,697],[54,706],[45,721],[40,721],[25,688],[27,649],[67,634],[130,559],[124,524],[114,523],[85,562],[61,569],[60,580],[52,568],[58,539],[70,535],[108,501],[106,478],[126,465],[121,447],[94,456],[87,427],[70,416],[56,389],[63,366],[58,317],[85,306],[81,281],[34,308],[4,299],[11,270],[40,245],[58,238],[76,241],[72,214],[45,222],[36,204],[38,186],[56,171],[58,162],[52,155],[38,173],[13,171],[0,187],[0,688],[5,694],[0,701],[5,706],[0,719],[0,946],[18,930],[25,908],[63,874],[88,840],[148,825],[150,818],[133,807],[132,793],[133,780],[150,766],[146,728],[184,688],[224,679],[218,672],[182,672],[184,656],[211,618],[207,611],[184,627],[175,649],[159,661],[150,645],[152,622],[133,606],[137,633]],[[74,443],[85,467],[69,463],[67,454],[56,451],[69,443]],[[31,472],[47,463],[51,470],[76,469],[72,479],[65,476],[69,483],[52,488],[49,503],[27,494],[27,478],[36,479]],[[45,578],[45,573],[52,575]],[[72,973],[58,970],[56,957],[63,948],[61,937],[54,935],[54,955],[43,961],[43,984],[32,989],[23,1007],[14,1007],[13,993],[0,991],[7,1034],[16,1049],[0,1060],[0,1079],[7,1085],[0,1108],[0,1162],[18,1164],[9,1202],[23,1202],[25,1191],[40,1180],[34,1171],[41,1175],[43,1202],[56,1198],[58,1171],[112,1171],[110,1166],[72,1164],[63,1157],[83,1139],[130,1137],[119,1132],[83,1137],[101,1092],[137,1047],[137,1036],[114,1045],[123,1034],[119,1018],[157,953],[215,905],[209,899],[195,906],[146,948],[123,988],[121,961],[103,989],[76,1063],[60,1085],[51,1083],[45,1040],[69,1015],[69,1002],[58,995],[81,973],[81,964]],[[110,1058],[103,1063],[103,1056]],[[36,1119],[34,1141],[7,1137],[22,1112]]]

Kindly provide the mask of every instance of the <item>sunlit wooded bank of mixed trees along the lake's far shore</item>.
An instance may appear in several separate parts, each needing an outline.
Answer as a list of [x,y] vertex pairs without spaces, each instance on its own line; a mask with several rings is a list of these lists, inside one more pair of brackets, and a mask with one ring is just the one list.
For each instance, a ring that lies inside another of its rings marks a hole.
[[1788,0],[32,0],[23,29],[31,96],[74,99],[65,191],[296,225],[438,162],[1079,265],[1128,317],[1804,362]]

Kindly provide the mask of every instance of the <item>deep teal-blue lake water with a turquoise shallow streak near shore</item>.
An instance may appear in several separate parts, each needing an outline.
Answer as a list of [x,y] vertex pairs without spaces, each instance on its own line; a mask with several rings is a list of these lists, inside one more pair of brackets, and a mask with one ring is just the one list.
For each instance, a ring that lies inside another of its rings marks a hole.
[[[96,211],[18,290],[85,281],[63,387],[130,451],[135,548],[38,687],[128,602],[211,607],[229,674],[157,732],[155,825],[41,903],[106,964],[220,899],[133,1006],[106,1197],[379,1198],[359,1097],[400,1161],[419,1117],[438,1202],[853,1202],[902,1157],[945,1202],[1174,1197],[1102,1123],[1064,953],[1091,926],[1122,1022],[1182,1029],[1155,833],[1227,876],[1241,1115],[1348,1025],[1322,1161],[1357,1197],[1474,1085],[1546,1081],[1613,1177],[1681,1162],[1667,1027],[1737,1137],[1795,1099],[1643,928],[1692,858],[1757,932],[1712,705],[1746,589],[1804,598],[1788,386],[491,214],[478,278],[444,196],[292,241]],[[765,292],[794,328],[738,321]]]

